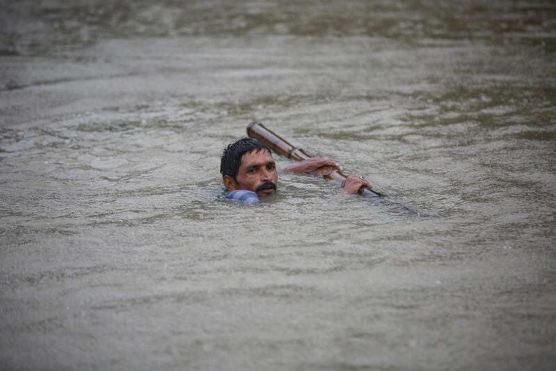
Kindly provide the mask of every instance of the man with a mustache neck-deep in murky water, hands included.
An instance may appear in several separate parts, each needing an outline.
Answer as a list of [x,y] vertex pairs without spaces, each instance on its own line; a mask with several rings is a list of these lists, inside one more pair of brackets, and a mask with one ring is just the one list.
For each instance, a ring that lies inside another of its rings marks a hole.
[[[288,166],[284,171],[310,175],[322,166],[342,170],[334,161],[313,157]],[[259,197],[276,193],[278,172],[272,152],[255,139],[243,138],[228,145],[222,152],[220,173],[224,187],[229,192],[226,196],[229,200],[256,203],[259,202]],[[348,194],[357,193],[363,186],[369,189],[371,187],[367,180],[355,175],[350,175],[342,182],[342,188]]]

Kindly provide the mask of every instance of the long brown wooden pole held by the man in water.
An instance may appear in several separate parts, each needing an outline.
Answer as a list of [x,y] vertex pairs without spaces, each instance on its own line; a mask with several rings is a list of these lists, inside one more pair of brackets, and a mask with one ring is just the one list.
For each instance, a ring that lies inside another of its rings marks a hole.
[[[312,156],[307,154],[302,148],[296,148],[286,140],[281,138],[281,136],[277,135],[275,132],[267,129],[261,123],[250,123],[247,125],[247,136],[250,136],[257,141],[260,141],[264,145],[266,145],[271,150],[275,151],[278,155],[282,155],[288,157],[288,159],[292,159],[293,161],[303,161],[306,159],[311,158]],[[321,175],[325,177],[325,179],[329,180],[339,180],[343,181],[347,178],[341,171],[336,170],[330,166],[322,166],[318,168],[316,171],[313,171],[313,175]],[[367,187],[361,187],[359,189],[359,194],[362,196],[366,196],[372,198],[373,200],[379,202],[389,203],[397,210],[403,210],[404,212],[409,212],[410,214],[416,214],[418,216],[423,216],[423,213],[419,210],[414,209],[413,207],[409,207],[403,205],[402,203],[397,203],[391,200],[388,200],[384,194],[381,194],[377,191],[373,191],[372,189],[368,189]]]

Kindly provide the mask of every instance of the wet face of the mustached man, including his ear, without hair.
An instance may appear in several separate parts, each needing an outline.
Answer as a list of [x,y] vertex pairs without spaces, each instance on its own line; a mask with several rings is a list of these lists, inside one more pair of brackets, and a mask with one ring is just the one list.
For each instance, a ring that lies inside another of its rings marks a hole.
[[278,173],[270,152],[252,150],[243,155],[236,180],[234,182],[228,175],[224,177],[224,185],[228,191],[247,189],[259,196],[275,194]]

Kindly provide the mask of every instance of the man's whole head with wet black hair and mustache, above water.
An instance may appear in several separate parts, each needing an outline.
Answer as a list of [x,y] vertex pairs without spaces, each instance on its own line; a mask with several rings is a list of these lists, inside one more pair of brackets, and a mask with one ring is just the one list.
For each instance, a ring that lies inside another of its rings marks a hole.
[[227,191],[247,189],[259,196],[276,192],[278,173],[272,152],[254,139],[242,138],[228,145],[222,152],[220,173]]

